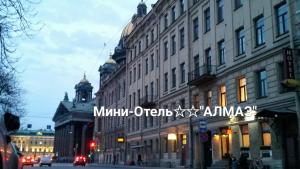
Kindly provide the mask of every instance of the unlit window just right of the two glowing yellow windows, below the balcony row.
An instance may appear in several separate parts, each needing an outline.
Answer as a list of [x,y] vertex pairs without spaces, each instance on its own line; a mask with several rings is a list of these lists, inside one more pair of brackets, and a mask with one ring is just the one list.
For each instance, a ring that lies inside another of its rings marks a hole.
[[257,73],[258,77],[258,97],[268,96],[267,71],[261,70]]

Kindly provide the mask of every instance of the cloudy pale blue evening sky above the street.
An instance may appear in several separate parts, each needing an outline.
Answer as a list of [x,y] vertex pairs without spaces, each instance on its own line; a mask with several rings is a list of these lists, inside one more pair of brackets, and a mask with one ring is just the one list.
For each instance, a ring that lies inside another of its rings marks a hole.
[[[157,0],[144,0],[150,4]],[[22,125],[53,127],[52,117],[64,93],[74,98],[74,86],[84,72],[95,93],[98,68],[113,52],[123,27],[140,0],[41,0],[34,20],[42,29],[18,43],[19,79],[25,89],[27,115]],[[106,44],[106,46],[104,45]]]

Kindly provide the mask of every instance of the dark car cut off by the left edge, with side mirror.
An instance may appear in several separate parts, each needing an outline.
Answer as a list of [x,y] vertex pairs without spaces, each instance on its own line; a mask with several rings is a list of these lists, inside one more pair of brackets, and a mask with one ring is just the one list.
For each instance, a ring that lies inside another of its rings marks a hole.
[[0,168],[21,169],[21,153],[15,144],[11,142],[9,133],[18,130],[20,120],[18,116],[4,113],[0,117]]

